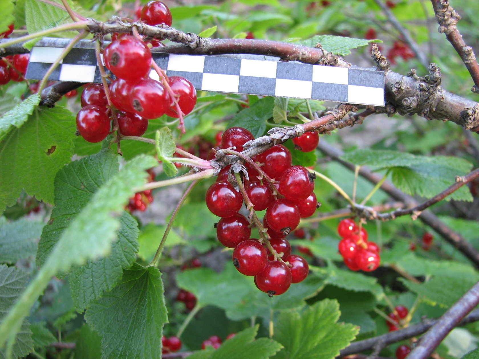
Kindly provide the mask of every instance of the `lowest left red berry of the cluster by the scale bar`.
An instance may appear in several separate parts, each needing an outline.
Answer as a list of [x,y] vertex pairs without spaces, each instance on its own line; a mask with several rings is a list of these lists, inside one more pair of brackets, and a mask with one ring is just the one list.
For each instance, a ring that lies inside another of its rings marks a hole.
[[77,114],[77,128],[86,141],[100,142],[110,133],[110,118],[104,108],[85,106]]

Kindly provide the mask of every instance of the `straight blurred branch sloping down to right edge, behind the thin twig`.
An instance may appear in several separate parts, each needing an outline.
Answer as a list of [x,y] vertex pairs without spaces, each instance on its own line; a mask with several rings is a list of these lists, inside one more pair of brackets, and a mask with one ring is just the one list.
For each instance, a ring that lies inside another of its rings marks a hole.
[[[324,141],[319,141],[318,149],[325,153],[326,155],[333,158],[335,161],[341,163],[344,167],[354,171],[355,166],[349,162],[343,161],[340,156],[343,152]],[[370,181],[371,183],[378,183],[382,176],[377,175],[376,173],[371,172],[365,167],[361,167],[359,174]],[[381,190],[388,193],[389,196],[394,198],[397,201],[403,202],[406,207],[415,207],[419,203],[416,202],[411,196],[399,191],[394,185],[388,181],[384,181],[381,185]],[[423,211],[418,217],[424,224],[430,226],[434,229],[440,236],[442,236],[445,241],[457,248],[461,253],[463,253],[471,262],[473,262],[477,267],[479,267],[479,252],[474,248],[468,241],[466,241],[461,235],[452,231],[448,226],[437,218],[435,214],[426,210]]]

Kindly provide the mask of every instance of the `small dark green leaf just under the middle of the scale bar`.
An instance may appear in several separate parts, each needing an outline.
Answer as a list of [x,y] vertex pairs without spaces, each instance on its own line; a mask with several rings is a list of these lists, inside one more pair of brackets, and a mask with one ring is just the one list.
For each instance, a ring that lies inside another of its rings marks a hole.
[[228,122],[230,127],[246,128],[254,138],[263,135],[266,129],[266,120],[272,117],[274,109],[274,98],[264,97],[250,107],[238,112],[238,114]]

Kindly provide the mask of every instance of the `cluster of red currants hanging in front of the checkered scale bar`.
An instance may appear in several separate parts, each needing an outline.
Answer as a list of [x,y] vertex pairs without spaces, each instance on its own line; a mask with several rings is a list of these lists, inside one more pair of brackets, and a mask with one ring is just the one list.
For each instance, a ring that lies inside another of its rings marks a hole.
[[[171,25],[171,12],[161,1],[150,1],[143,7],[140,19],[153,26]],[[116,77],[109,91],[113,105],[120,111],[116,116],[122,135],[141,136],[147,130],[148,120],[164,114],[179,118],[178,108],[186,115],[196,104],[196,90],[187,79],[171,76],[161,83],[149,77],[150,48],[133,35],[114,34],[113,41],[103,51],[103,63]],[[103,141],[110,133],[110,111],[104,90],[99,87],[87,88],[97,95],[92,95],[90,101],[82,101],[83,107],[77,115],[80,135],[88,142]]]

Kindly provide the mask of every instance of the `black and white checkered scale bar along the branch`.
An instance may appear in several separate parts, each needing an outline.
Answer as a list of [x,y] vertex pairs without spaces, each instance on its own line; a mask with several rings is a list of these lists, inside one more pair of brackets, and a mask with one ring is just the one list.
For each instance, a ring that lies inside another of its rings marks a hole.
[[[63,50],[43,39],[33,47],[25,78],[42,79]],[[196,90],[291,97],[384,106],[384,72],[360,67],[265,60],[264,56],[197,56],[153,52],[168,76],[188,79]],[[152,79],[158,74],[152,70]],[[68,53],[50,80],[101,82],[93,43],[83,40]]]

